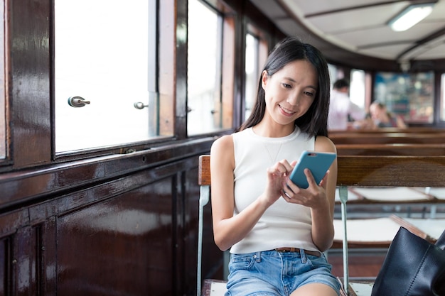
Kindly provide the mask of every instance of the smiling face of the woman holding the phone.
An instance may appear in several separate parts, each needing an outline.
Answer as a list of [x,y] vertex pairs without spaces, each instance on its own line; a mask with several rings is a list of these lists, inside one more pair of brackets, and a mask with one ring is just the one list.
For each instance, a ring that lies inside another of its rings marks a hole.
[[318,89],[316,70],[306,60],[296,60],[273,76],[262,73],[266,113],[275,123],[294,125],[313,103]]

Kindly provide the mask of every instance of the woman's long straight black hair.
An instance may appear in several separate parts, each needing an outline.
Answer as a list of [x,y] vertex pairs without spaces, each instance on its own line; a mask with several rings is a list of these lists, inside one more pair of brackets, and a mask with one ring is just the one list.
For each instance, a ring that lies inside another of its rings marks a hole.
[[[302,43],[297,38],[285,38],[275,45],[274,50],[267,58],[264,70],[267,75],[272,76],[282,67],[294,62],[295,60],[307,60],[310,62],[317,73],[318,89],[313,103],[309,110],[303,116],[296,119],[295,124],[301,131],[308,133],[309,136],[328,136],[328,109],[330,95],[330,80],[328,63],[321,52],[313,45]],[[262,72],[263,72],[262,71]],[[259,77],[257,90],[257,102],[255,102],[252,114],[245,121],[239,130],[250,128],[259,124],[266,111],[266,101],[264,89],[262,88],[262,75]]]

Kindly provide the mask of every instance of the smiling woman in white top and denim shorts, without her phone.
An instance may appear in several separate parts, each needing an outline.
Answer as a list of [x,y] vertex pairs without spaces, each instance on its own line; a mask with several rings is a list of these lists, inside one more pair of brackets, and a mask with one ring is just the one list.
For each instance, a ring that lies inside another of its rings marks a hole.
[[333,242],[337,163],[307,189],[289,180],[303,150],[336,153],[327,138],[323,55],[295,38],[266,62],[249,119],[210,151],[215,243],[230,248],[227,295],[335,296],[323,251]]

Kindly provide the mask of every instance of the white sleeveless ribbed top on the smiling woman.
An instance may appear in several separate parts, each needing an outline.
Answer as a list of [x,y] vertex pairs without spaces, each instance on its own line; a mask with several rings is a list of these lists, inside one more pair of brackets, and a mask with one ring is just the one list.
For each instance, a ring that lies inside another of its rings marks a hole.
[[[265,138],[252,128],[233,133],[235,148],[235,209],[240,213],[264,192],[267,168],[279,160],[291,163],[304,150],[314,150],[315,138],[298,127],[283,138]],[[291,204],[283,198],[272,204],[242,241],[230,253],[252,253],[274,248],[294,247],[318,251],[311,237],[311,209]]]

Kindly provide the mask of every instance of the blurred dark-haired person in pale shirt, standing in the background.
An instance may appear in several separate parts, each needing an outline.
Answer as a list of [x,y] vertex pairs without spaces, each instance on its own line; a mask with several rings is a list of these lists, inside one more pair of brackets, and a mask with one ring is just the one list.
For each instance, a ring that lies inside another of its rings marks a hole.
[[358,122],[365,119],[365,110],[351,102],[348,92],[348,80],[341,79],[334,82],[331,92],[331,103],[329,104],[329,130],[340,131],[348,129],[349,118]]

